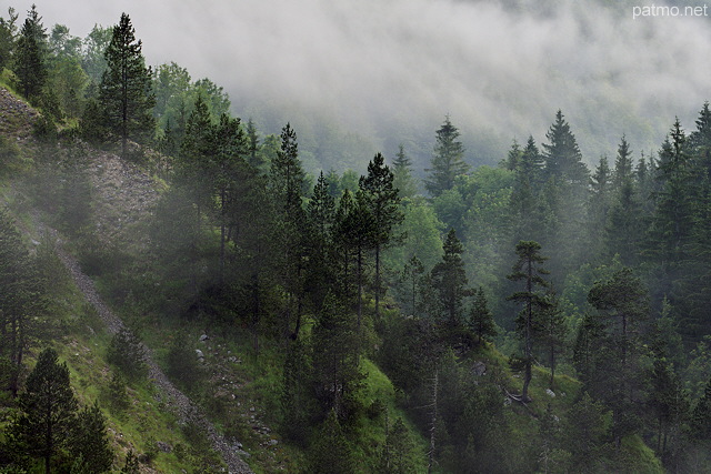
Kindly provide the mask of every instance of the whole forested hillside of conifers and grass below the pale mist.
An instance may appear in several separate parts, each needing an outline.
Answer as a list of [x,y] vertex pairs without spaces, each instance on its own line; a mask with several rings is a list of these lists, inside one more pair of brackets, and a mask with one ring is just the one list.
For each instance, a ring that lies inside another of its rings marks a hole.
[[708,102],[378,151],[41,13],[0,18],[0,473],[711,472]]

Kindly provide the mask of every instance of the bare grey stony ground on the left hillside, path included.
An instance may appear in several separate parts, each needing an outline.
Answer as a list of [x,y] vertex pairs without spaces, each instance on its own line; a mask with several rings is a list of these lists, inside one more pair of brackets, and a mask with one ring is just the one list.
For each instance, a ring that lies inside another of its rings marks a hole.
[[[10,143],[11,150],[17,151],[13,154],[36,154],[39,150],[40,144],[32,135],[33,124],[39,117],[39,113],[30,105],[14,98],[7,89],[0,88],[0,137],[4,140],[6,148],[9,148],[7,143]],[[157,191],[159,184],[140,167],[127,162],[116,154],[93,150],[86,145],[80,145],[80,154],[87,157],[86,171],[91,182],[97,235],[100,240],[113,241],[120,236],[127,224],[137,222],[150,213],[152,205],[159,199]],[[11,184],[8,195],[17,198],[24,194],[27,190],[20,188]],[[54,242],[53,249],[57,255],[86,302],[96,310],[106,324],[109,335],[124,329],[121,319],[102,301],[94,282],[83,273],[77,258],[66,248],[64,244],[71,242],[43,224],[40,215],[41,213],[32,211],[32,224],[27,225],[22,221],[18,221],[18,225],[33,242],[38,242],[38,239],[41,240],[42,234],[50,236],[50,240]],[[91,331],[93,332],[93,330]],[[149,367],[149,380],[156,386],[164,405],[177,416],[178,423],[194,425],[204,432],[211,447],[220,454],[229,472],[251,473],[251,468],[238,455],[241,443],[234,440],[228,442],[207,418],[203,411],[171,383],[158,365],[151,349],[148,346],[143,346],[143,349]],[[101,370],[101,367],[97,367],[97,370]],[[82,387],[74,389],[79,393],[82,392]],[[94,387],[99,391],[103,389]],[[119,435],[117,432],[113,434]]]

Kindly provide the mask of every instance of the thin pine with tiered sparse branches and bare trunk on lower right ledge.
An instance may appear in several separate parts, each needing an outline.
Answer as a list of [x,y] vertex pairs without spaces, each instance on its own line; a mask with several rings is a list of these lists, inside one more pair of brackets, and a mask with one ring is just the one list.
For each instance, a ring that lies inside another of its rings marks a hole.
[[515,246],[515,253],[519,256],[513,265],[513,273],[508,279],[514,282],[523,281],[523,291],[515,292],[509,296],[509,300],[523,303],[523,311],[519,316],[518,331],[523,339],[523,390],[521,391],[521,400],[529,402],[528,394],[529,384],[531,383],[531,367],[533,365],[533,337],[534,324],[539,314],[549,307],[549,302],[543,295],[537,292],[537,288],[547,289],[550,283],[543,279],[549,272],[541,265],[548,258],[541,255],[541,245],[533,241],[521,241]]

